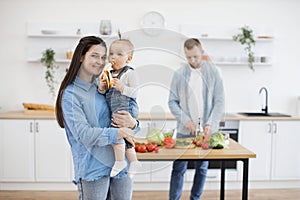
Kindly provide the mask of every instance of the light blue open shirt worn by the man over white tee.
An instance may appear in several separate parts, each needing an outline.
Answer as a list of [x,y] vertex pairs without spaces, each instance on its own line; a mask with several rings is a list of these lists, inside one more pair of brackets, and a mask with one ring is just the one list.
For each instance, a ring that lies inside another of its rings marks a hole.
[[[203,123],[212,127],[212,132],[219,129],[219,123],[224,114],[224,86],[219,68],[212,62],[204,61],[201,66],[203,80]],[[177,120],[177,131],[189,135],[185,124],[191,121],[188,106],[188,90],[191,69],[188,64],[179,68],[173,75],[170,93],[169,108]]]

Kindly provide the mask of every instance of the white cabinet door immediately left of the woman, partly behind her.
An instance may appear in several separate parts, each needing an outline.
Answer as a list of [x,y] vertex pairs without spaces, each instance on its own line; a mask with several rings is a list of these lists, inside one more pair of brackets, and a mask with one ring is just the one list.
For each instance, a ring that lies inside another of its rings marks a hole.
[[35,121],[36,181],[71,181],[71,152],[55,120]]

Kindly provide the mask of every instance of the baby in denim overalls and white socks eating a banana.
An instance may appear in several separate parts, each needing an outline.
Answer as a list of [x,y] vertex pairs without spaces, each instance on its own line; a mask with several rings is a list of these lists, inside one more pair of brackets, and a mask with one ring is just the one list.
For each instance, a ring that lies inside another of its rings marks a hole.
[[[111,64],[112,70],[109,72],[106,68],[104,69],[98,89],[101,93],[106,92],[106,101],[112,113],[126,110],[133,118],[137,119],[139,112],[136,102],[138,78],[134,69],[128,66],[128,63],[132,60],[133,49],[133,44],[126,39],[118,39],[111,43],[108,61]],[[105,87],[103,87],[103,85],[105,85]],[[103,88],[107,88],[107,90],[103,91]],[[126,140],[125,144],[120,143],[113,145],[116,161],[110,174],[111,177],[116,176],[127,166],[125,154],[130,162],[128,170],[128,176],[130,178],[132,178],[138,168],[141,167],[140,162],[137,160],[134,147]]]

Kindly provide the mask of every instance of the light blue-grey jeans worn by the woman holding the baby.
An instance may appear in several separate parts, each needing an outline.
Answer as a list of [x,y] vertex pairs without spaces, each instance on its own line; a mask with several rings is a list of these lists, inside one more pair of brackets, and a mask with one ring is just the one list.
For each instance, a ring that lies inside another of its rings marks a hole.
[[131,200],[130,178],[101,177],[95,181],[80,180],[77,183],[79,200]]

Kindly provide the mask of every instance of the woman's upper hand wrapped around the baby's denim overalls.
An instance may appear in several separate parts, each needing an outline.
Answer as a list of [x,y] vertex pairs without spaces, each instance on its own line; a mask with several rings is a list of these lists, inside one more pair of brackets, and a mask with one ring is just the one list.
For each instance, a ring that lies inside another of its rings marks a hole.
[[125,110],[118,111],[112,115],[112,126],[120,128],[126,127],[134,129],[137,125],[137,121]]

